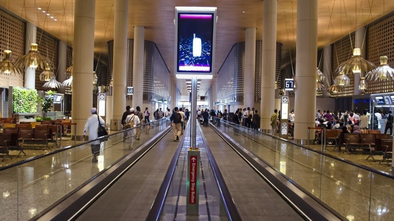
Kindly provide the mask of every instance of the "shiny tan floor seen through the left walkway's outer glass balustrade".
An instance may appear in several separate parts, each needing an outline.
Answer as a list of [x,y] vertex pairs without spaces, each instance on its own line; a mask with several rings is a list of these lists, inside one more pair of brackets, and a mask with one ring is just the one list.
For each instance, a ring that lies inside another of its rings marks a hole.
[[123,133],[112,136],[101,143],[96,163],[86,144],[0,171],[0,220],[30,219],[130,153],[130,145],[135,148],[163,129],[165,124],[151,128],[148,134],[141,132],[140,140],[134,142],[123,142]]

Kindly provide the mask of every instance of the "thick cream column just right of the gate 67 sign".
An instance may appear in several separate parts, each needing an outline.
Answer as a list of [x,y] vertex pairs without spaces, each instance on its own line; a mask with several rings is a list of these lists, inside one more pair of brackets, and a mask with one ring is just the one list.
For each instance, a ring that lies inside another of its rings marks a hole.
[[[297,1],[296,119],[294,139],[304,143],[315,126],[316,61],[318,57],[318,0]],[[298,114],[297,114],[298,113]],[[310,138],[314,139],[314,131]]]

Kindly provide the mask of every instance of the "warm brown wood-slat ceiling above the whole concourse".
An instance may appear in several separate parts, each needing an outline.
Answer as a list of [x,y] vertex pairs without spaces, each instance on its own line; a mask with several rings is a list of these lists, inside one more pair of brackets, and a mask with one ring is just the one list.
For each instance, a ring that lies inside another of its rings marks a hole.
[[[245,41],[245,28],[256,27],[256,39],[262,39],[263,3],[261,0],[190,0],[188,4],[184,2],[184,0],[129,1],[129,38],[133,38],[133,26],[145,26],[145,39],[157,44],[171,71],[171,76],[174,73],[175,6],[217,7],[215,72],[219,70],[232,45]],[[107,55],[106,42],[113,39],[113,4],[114,0],[96,0],[95,53],[102,53],[102,57]],[[72,45],[74,0],[0,0],[0,6]],[[37,7],[41,7],[41,10]],[[360,27],[393,10],[394,1],[389,0],[363,2],[357,0],[357,7],[355,0],[319,0],[319,47],[346,36],[349,31],[354,31],[356,15],[357,27]],[[46,13],[54,18],[50,18]],[[295,47],[296,18],[296,0],[279,0],[277,41],[281,42],[284,48]],[[330,28],[329,24],[331,24]],[[181,93],[186,94],[184,81],[177,80],[176,82]],[[200,95],[206,93],[211,81],[205,82],[208,83],[201,85]]]

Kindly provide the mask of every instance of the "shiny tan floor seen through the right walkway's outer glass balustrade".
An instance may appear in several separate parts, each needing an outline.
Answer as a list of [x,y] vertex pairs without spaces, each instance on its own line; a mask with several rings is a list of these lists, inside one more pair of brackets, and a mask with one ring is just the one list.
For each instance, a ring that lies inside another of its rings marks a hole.
[[252,130],[219,128],[347,219],[394,220],[394,179]]

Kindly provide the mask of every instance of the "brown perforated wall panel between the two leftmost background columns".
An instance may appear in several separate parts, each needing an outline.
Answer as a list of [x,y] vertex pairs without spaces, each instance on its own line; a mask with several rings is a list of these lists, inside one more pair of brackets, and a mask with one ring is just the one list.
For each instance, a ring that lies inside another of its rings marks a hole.
[[[56,75],[56,70],[58,68],[58,39],[38,27],[36,39],[38,52],[52,61],[54,66],[53,72]],[[40,81],[40,74],[43,71],[44,70],[40,67],[35,69],[35,89],[37,90],[48,90],[48,88],[43,88],[45,82]]]

